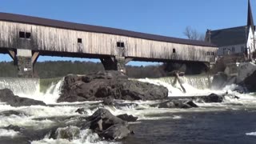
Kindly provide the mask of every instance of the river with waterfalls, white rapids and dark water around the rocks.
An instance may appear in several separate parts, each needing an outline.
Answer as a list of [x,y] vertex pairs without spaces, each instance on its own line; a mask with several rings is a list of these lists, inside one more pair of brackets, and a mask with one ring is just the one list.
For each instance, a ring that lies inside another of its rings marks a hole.
[[[61,79],[61,78],[60,78]],[[169,97],[207,95],[210,93],[222,94],[228,91],[236,94],[240,99],[226,98],[222,103],[197,103],[198,108],[191,109],[159,109],[150,106],[157,101],[117,101],[120,107],[105,106],[114,115],[132,114],[138,117],[137,122],[131,122],[130,128],[134,135],[112,142],[102,140],[91,130],[77,130],[76,127],[66,127],[74,134],[74,138],[63,139],[60,133],[57,139],[37,138],[33,144],[80,144],[80,143],[255,143],[256,142],[256,95],[238,94],[234,92],[237,86],[226,86],[222,90],[207,89],[209,78],[206,76],[191,76],[182,78],[187,93],[184,94],[179,86],[172,86],[173,78],[136,79],[166,86]],[[30,133],[44,130],[58,125],[62,117],[78,116],[80,107],[102,106],[99,102],[72,102],[56,103],[62,86],[62,79],[52,82],[42,92],[42,82],[38,79],[27,78],[0,78],[0,89],[10,88],[21,97],[34,98],[46,102],[48,106],[21,106],[12,107],[0,103],[0,112],[5,110],[20,111],[22,114],[0,115],[0,127],[20,126]],[[103,107],[103,106],[102,106]],[[97,109],[86,110],[85,115],[93,114]],[[65,129],[65,128],[62,128]],[[61,131],[61,129],[60,129]],[[78,134],[77,134],[78,133]],[[32,137],[32,136],[31,136]],[[22,134],[14,130],[0,128],[0,143],[27,143]]]

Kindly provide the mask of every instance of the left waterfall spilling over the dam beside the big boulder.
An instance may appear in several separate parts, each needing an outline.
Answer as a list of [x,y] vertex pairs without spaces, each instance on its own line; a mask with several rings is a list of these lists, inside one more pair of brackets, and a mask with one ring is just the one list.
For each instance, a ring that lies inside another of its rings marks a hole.
[[10,89],[15,95],[49,104],[59,97],[64,78],[0,78],[0,90]]

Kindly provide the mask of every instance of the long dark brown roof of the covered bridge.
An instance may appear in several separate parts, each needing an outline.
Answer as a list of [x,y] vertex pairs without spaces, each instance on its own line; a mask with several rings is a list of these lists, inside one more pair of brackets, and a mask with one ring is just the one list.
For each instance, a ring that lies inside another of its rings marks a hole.
[[7,22],[21,22],[21,23],[34,24],[39,26],[57,27],[57,28],[63,28],[63,29],[69,29],[69,30],[81,30],[81,31],[94,32],[94,33],[103,33],[103,34],[115,34],[115,35],[122,35],[122,36],[133,37],[133,38],[143,38],[143,39],[160,41],[160,42],[173,42],[173,43],[180,43],[180,44],[187,44],[187,45],[194,45],[194,46],[217,47],[214,44],[211,44],[209,42],[195,41],[195,40],[184,39],[184,38],[172,38],[172,37],[166,37],[166,36],[161,36],[156,34],[146,34],[146,33],[130,31],[130,30],[121,30],[121,29],[115,29],[110,27],[104,27],[104,26],[92,26],[92,25],[79,24],[74,22],[64,22],[59,20],[31,17],[26,15],[20,15],[20,14],[8,14],[8,13],[0,12],[0,20],[7,21]]

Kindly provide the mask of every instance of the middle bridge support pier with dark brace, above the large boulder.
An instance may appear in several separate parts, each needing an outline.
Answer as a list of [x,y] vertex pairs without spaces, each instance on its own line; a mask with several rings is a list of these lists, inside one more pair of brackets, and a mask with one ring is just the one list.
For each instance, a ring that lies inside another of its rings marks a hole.
[[126,73],[126,58],[125,57],[109,57],[100,58],[105,70],[118,70]]

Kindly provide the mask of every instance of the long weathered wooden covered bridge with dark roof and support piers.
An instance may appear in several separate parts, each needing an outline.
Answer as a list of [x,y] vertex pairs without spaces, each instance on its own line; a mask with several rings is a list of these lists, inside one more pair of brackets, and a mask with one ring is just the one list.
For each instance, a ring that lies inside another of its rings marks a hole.
[[39,55],[99,58],[106,70],[124,70],[131,60],[210,62],[217,50],[208,42],[0,13],[0,53],[10,54],[21,77],[33,76]]

